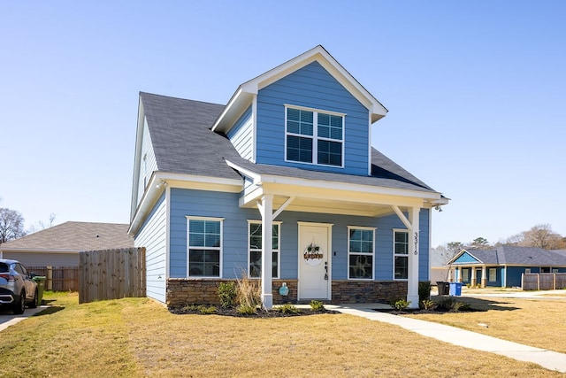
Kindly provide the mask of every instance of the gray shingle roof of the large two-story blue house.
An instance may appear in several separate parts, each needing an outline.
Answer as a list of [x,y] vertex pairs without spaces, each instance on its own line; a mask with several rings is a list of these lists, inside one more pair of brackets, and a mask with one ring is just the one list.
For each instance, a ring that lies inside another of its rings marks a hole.
[[210,131],[224,105],[143,92],[140,96],[156,154],[157,169],[161,172],[240,179],[241,176],[226,165],[227,159],[256,174],[434,192],[423,181],[373,148],[371,176],[254,164],[240,157],[226,135]]

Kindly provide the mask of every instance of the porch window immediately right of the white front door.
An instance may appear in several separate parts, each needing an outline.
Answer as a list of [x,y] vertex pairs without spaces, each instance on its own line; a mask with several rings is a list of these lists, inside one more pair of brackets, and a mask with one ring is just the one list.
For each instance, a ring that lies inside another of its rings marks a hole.
[[348,226],[348,278],[373,279],[375,228]]

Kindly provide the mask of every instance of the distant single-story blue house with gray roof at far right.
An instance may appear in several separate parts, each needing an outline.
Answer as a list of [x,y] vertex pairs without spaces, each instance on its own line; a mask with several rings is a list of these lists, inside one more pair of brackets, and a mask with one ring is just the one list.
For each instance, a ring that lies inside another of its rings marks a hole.
[[524,273],[565,273],[566,253],[505,245],[493,250],[462,250],[445,266],[449,265],[456,282],[481,287],[520,287]]

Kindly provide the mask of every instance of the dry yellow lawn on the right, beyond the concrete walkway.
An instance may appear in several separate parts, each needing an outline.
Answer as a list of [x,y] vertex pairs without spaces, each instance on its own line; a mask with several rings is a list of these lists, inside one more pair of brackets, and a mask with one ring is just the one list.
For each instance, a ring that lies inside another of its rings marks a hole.
[[[566,353],[566,300],[501,297],[453,297],[479,312],[408,315],[549,351]],[[435,298],[440,301],[441,298]]]

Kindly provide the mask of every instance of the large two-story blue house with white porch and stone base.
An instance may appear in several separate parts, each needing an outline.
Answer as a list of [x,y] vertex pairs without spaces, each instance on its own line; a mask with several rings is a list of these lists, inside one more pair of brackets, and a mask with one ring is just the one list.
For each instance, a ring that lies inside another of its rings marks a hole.
[[448,200],[371,147],[385,115],[321,46],[226,105],[141,93],[129,233],[147,251],[148,297],[216,302],[243,275],[261,280],[265,308],[416,307],[431,211]]

